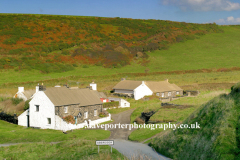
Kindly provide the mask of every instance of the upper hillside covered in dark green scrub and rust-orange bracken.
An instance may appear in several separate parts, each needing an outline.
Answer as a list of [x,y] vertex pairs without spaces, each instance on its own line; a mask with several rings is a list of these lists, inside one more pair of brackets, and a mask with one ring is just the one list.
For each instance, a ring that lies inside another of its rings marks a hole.
[[[216,24],[81,16],[0,14],[0,69],[65,72],[82,64],[120,68],[147,51],[223,32]],[[49,69],[50,68],[50,69]]]

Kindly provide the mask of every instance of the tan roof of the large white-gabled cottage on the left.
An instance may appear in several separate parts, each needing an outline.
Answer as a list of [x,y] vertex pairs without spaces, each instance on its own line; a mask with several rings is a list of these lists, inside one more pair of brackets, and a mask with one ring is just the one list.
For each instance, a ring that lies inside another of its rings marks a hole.
[[80,106],[89,106],[102,104],[93,90],[88,88],[69,89],[66,87],[47,88],[44,93],[51,100],[54,106],[65,106],[79,104]]

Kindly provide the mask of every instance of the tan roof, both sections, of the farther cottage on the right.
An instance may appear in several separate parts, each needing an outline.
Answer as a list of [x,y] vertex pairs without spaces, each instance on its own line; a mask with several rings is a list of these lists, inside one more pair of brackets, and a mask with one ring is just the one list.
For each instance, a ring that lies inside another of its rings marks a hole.
[[[144,81],[144,83],[152,90],[152,92],[180,91],[183,90],[175,84],[167,81]],[[142,81],[123,80],[119,82],[113,89],[134,90],[142,84]]]

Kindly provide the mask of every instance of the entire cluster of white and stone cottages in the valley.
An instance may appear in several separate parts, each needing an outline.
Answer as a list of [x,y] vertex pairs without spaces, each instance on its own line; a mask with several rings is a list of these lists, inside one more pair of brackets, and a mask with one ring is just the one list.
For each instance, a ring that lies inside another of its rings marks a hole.
[[[183,90],[168,80],[131,81],[123,79],[113,87],[114,93],[131,95],[135,100],[155,94],[161,98],[182,95]],[[72,130],[86,125],[95,125],[111,120],[111,114],[105,113],[103,103],[118,101],[119,107],[130,107],[130,103],[122,98],[107,97],[97,91],[97,84],[91,83],[87,88],[71,88],[55,86],[45,88],[36,86],[36,90],[24,91],[19,87],[15,98],[31,99],[29,109],[18,117],[18,124],[26,127],[42,129]],[[75,124],[66,122],[63,117],[71,115]]]

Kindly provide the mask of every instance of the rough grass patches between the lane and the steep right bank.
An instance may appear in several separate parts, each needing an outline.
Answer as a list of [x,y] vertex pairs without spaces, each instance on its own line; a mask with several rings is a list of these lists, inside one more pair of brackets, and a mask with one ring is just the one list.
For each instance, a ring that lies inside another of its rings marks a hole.
[[[182,123],[188,116],[190,116],[194,111],[196,111],[201,105],[207,103],[209,100],[213,99],[220,94],[228,94],[230,90],[219,90],[219,91],[202,91],[196,97],[184,97],[177,100],[173,100],[170,103],[179,105],[189,105],[184,109],[181,108],[164,108],[161,107],[161,102],[157,99],[152,99],[150,101],[138,101],[137,108],[131,115],[131,122],[133,122],[137,117],[141,115],[141,112],[155,110],[157,111],[149,121],[156,122],[171,122],[171,123]],[[140,103],[139,103],[140,102]],[[165,124],[165,123],[161,123]],[[164,131],[163,129],[150,130],[147,128],[137,129],[133,131],[129,140],[132,141],[143,141],[145,139],[151,138],[152,136],[159,134]]]

